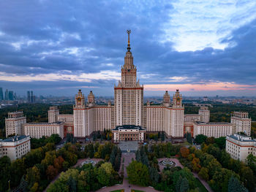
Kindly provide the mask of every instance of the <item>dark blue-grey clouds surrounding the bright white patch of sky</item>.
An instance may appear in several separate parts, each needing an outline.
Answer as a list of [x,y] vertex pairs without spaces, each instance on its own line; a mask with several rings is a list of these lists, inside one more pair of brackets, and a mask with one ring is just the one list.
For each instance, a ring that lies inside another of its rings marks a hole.
[[[160,43],[165,33],[163,23],[175,11],[165,1],[161,4],[117,0],[111,3],[1,1],[0,7],[1,72],[33,75],[63,70],[73,74],[119,72],[127,46],[125,31],[131,28],[132,53],[139,76],[154,74],[141,78],[144,84],[169,83],[170,77],[187,77],[182,82],[189,83],[256,84],[256,20],[233,31],[232,38],[222,39],[222,43],[230,45],[225,50],[206,47],[195,52],[178,52],[173,50],[172,42]],[[36,88],[39,83],[42,88],[64,85],[110,88],[114,82],[2,81],[1,86],[26,89]]]

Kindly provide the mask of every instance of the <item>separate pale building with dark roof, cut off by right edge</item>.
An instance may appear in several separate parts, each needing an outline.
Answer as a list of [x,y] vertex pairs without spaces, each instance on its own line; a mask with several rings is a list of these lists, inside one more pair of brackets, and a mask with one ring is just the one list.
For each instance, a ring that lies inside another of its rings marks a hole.
[[249,154],[256,155],[256,140],[241,134],[229,135],[226,137],[226,152],[231,158],[245,161]]

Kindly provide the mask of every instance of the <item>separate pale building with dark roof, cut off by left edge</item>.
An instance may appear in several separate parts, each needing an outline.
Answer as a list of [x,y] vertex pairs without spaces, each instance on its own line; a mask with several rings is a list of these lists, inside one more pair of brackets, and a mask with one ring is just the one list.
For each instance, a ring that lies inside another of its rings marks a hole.
[[13,161],[29,153],[30,149],[30,137],[19,135],[4,140],[0,139],[0,158],[8,156]]

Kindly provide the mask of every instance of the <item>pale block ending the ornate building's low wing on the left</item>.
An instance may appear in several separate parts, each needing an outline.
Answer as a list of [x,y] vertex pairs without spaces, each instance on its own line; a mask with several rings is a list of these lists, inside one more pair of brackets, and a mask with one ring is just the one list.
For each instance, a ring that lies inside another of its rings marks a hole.
[[5,118],[6,137],[10,134],[23,135],[24,123],[26,123],[26,117],[23,112],[8,112],[8,118]]

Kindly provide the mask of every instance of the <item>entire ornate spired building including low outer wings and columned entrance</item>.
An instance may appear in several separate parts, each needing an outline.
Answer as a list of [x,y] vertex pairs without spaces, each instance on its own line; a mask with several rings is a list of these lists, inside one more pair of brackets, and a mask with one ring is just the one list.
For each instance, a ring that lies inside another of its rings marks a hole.
[[[81,90],[75,95],[73,115],[59,114],[58,107],[48,110],[48,123],[26,123],[23,113],[15,113],[6,119],[7,134],[25,133],[31,137],[68,133],[75,137],[89,137],[94,131],[112,130],[113,141],[143,141],[146,132],[165,132],[167,137],[184,137],[191,133],[207,137],[225,137],[237,132],[250,134],[251,119],[246,112],[234,112],[231,123],[209,123],[210,110],[201,106],[198,114],[184,115],[182,96],[178,89],[170,100],[165,91],[162,104],[143,101],[143,85],[137,79],[137,67],[133,64],[129,34],[124,65],[121,66],[121,80],[114,86],[114,103],[98,105],[92,91],[86,97]],[[20,120],[23,120],[21,122]],[[18,123],[17,123],[18,122]],[[20,123],[21,122],[21,123]],[[24,124],[21,126],[21,124]],[[17,125],[16,125],[17,124]]]

